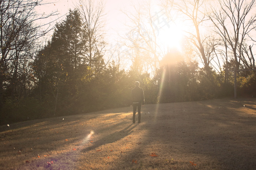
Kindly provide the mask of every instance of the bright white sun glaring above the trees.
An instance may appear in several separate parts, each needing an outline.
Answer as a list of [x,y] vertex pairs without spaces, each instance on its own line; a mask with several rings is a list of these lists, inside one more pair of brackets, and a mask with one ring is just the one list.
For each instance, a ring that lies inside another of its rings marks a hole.
[[184,26],[182,24],[170,23],[159,29],[159,41],[165,48],[176,48],[181,51],[181,41],[184,36]]

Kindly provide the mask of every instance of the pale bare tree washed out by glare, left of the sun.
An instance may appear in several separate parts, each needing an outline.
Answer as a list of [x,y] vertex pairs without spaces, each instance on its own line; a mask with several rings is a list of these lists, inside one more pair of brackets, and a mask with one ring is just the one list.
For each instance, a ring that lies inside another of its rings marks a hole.
[[[133,5],[133,10],[132,12],[124,12],[129,18],[129,22],[126,24],[129,31],[125,36],[121,36],[124,39],[124,45],[132,51],[133,63],[138,59],[138,55],[147,54],[146,58],[140,56],[143,58],[142,63],[145,66],[151,66],[153,76],[158,76],[159,61],[163,55],[161,55],[157,36],[160,29],[159,23],[162,22],[159,20],[162,19],[163,15],[153,11],[150,3]],[[163,24],[167,24],[167,22],[166,20]]]

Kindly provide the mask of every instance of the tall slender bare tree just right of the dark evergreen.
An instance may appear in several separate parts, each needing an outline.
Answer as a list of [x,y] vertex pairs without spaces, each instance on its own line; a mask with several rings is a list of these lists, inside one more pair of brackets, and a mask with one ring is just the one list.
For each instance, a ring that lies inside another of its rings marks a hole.
[[87,39],[86,49],[84,52],[88,58],[86,61],[89,67],[94,67],[96,70],[106,65],[103,62],[105,54],[104,38],[104,4],[98,1],[95,4],[94,0],[79,0],[78,9],[82,17],[82,27],[84,29],[84,38]]

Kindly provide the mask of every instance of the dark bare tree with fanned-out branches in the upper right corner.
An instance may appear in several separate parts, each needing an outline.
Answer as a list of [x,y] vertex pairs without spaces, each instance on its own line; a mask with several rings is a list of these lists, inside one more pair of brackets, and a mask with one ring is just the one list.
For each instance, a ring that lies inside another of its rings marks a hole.
[[218,7],[211,9],[208,17],[215,25],[216,31],[233,53],[236,68],[241,62],[246,64],[243,56],[243,44],[255,29],[256,0],[218,0]]

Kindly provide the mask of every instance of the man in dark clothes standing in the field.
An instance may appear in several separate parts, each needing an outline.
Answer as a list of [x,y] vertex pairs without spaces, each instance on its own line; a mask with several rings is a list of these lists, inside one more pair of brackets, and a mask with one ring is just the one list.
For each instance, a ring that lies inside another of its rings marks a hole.
[[132,89],[132,106],[133,106],[132,123],[135,123],[135,114],[136,114],[137,107],[138,107],[138,114],[139,114],[138,123],[140,123],[141,104],[144,106],[144,103],[145,103],[144,91],[139,86],[140,86],[140,82],[135,82],[135,88]]

